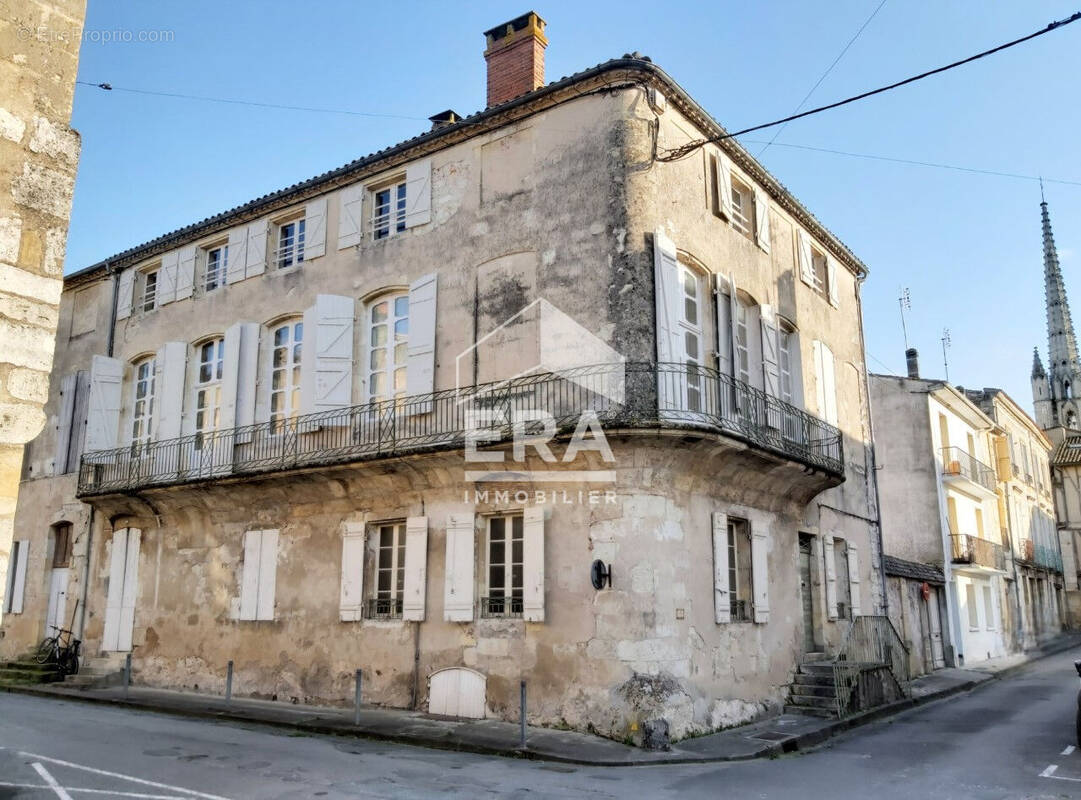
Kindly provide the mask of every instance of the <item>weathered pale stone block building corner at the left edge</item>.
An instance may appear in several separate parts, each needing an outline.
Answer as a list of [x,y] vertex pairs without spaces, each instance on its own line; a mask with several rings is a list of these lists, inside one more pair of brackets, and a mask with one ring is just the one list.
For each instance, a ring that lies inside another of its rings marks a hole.
[[[79,135],[71,97],[85,3],[15,0],[0,26],[0,586],[24,574],[12,544],[23,446],[45,424]],[[15,569],[9,569],[9,565]],[[16,606],[17,608],[17,606]]]

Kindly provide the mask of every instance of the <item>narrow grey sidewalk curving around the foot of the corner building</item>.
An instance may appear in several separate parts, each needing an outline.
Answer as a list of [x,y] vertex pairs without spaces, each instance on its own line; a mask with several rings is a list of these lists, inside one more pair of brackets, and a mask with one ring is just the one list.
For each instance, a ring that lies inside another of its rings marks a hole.
[[353,724],[351,708],[290,705],[246,698],[233,698],[226,704],[225,698],[219,696],[161,689],[132,686],[126,693],[122,688],[72,689],[63,684],[4,689],[19,694],[104,703],[185,717],[254,722],[310,734],[361,736],[423,747],[597,766],[632,766],[739,761],[808,749],[842,731],[967,691],[1006,676],[1037,658],[1073,648],[1081,648],[1081,634],[1067,634],[1024,655],[997,658],[971,669],[939,669],[912,681],[911,697],[844,720],[786,714],[729,731],[684,739],[664,752],[643,750],[573,731],[533,726],[526,729],[526,749],[522,751],[519,747],[520,729],[516,722],[449,720],[397,709],[362,707],[360,724]]

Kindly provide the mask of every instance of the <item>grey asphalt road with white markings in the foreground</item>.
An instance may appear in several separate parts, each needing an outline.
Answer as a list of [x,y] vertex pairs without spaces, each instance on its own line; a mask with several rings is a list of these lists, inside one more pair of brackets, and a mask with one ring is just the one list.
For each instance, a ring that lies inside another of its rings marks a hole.
[[0,800],[1081,798],[1078,657],[1045,658],[813,752],[706,766],[570,766],[0,694]]

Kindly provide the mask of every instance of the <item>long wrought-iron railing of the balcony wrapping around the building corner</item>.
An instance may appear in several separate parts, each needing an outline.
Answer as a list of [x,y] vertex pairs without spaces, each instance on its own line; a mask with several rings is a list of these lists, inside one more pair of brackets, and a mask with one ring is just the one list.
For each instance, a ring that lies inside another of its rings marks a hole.
[[[692,428],[844,474],[841,432],[716,370],[651,362],[584,366],[445,389],[146,444],[85,453],[79,496],[278,472],[461,448],[471,414],[509,440],[519,413],[550,414],[561,434],[592,412],[613,428]],[[491,422],[494,417],[494,422]],[[485,434],[485,441],[492,441]]]

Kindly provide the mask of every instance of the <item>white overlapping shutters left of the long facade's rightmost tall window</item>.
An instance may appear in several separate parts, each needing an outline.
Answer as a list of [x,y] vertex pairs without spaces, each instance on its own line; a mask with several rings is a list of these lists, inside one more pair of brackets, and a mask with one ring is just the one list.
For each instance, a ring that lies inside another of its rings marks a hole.
[[301,413],[333,411],[352,402],[352,297],[320,294],[304,312],[306,351],[301,360]]

